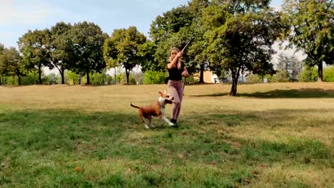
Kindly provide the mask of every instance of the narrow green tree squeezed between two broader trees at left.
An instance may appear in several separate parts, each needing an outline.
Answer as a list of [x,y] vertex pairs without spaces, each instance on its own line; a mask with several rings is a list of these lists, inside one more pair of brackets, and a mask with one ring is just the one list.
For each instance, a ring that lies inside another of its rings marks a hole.
[[74,48],[69,31],[71,31],[71,24],[59,22],[51,27],[51,63],[58,69],[61,75],[61,84],[65,84],[64,72],[71,68],[71,61],[74,61]]

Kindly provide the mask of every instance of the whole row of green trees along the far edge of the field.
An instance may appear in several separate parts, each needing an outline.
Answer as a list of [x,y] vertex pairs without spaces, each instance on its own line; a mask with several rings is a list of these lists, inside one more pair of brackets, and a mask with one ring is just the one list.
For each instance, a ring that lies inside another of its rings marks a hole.
[[[0,75],[19,79],[42,68],[56,68],[64,83],[64,71],[86,75],[105,68],[122,66],[129,75],[136,65],[143,72],[166,71],[171,46],[186,48],[183,60],[189,73],[206,70],[231,74],[230,95],[236,95],[241,73],[273,75],[271,58],[275,41],[288,41],[307,58],[303,63],[318,67],[323,81],[323,63],[334,63],[333,0],[285,0],[282,11],[270,1],[192,0],[166,11],[151,23],[150,38],[136,26],[115,29],[109,36],[95,23],[87,21],[56,23],[44,30],[28,31],[19,38],[19,51],[0,44]],[[288,63],[287,63],[288,64]],[[295,73],[287,72],[291,80]],[[1,76],[0,76],[1,78]],[[1,80],[0,80],[1,83]]]

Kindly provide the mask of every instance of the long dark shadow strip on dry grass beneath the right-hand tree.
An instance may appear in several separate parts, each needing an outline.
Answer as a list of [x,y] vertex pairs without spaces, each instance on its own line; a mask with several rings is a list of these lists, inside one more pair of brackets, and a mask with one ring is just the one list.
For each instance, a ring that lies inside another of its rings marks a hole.
[[[228,93],[214,93],[210,95],[191,95],[194,97],[221,97]],[[268,92],[237,93],[236,97],[249,98],[334,98],[334,90],[318,88],[302,88],[299,90],[270,90]]]

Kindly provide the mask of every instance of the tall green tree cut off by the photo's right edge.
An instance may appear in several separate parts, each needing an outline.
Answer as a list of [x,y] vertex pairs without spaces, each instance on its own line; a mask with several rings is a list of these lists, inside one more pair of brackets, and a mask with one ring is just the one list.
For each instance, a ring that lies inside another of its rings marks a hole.
[[302,50],[308,66],[318,66],[318,81],[323,81],[323,62],[334,63],[333,0],[285,0],[284,19],[290,23],[286,33],[289,46]]

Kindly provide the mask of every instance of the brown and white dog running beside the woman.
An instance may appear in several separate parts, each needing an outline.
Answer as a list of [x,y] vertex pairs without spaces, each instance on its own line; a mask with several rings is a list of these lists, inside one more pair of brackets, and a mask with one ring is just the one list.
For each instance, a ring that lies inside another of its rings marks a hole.
[[[168,122],[168,125],[171,125],[171,126],[174,125],[173,122],[171,122],[165,117],[165,109],[166,109],[165,106],[166,104],[173,103],[172,100],[174,98],[171,97],[169,94],[166,94],[166,93],[163,94],[160,91],[158,93],[160,97],[158,98],[158,100],[156,100],[156,102],[152,103],[151,105],[138,107],[130,103],[132,107],[139,109],[139,117],[143,121],[143,124],[145,125],[146,129],[149,129],[150,127],[154,127],[153,122],[152,122],[152,116],[154,117],[158,116],[162,118],[165,122]],[[146,124],[144,118],[148,119],[148,121],[150,122],[150,126]]]

